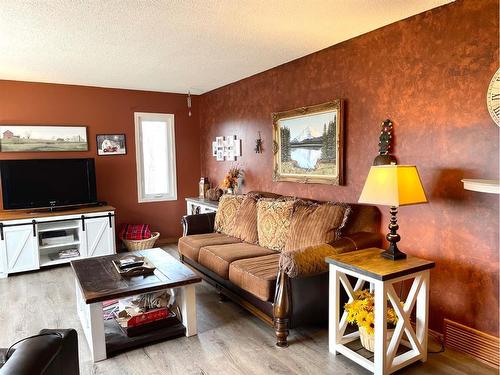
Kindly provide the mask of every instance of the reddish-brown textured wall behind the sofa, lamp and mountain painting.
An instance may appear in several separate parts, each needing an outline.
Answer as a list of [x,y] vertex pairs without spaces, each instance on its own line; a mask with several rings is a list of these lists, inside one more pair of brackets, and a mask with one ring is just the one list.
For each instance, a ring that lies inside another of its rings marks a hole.
[[[395,154],[417,165],[430,201],[401,208],[399,223],[400,248],[437,264],[431,328],[442,331],[446,317],[498,336],[499,199],[460,182],[498,178],[485,95],[499,63],[498,9],[498,0],[457,1],[202,95],[202,174],[222,178],[231,163],[215,161],[211,142],[239,134],[244,191],[356,202],[379,124],[392,119]],[[346,185],[273,182],[271,113],[335,98],[346,104]]]

